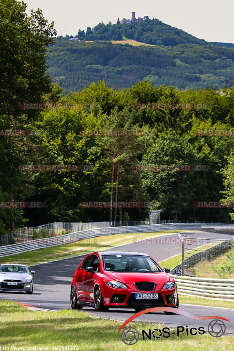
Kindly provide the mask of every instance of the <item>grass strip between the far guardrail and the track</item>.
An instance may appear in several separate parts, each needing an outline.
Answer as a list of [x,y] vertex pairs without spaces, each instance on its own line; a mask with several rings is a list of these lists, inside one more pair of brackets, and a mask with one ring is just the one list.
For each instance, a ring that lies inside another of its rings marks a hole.
[[[12,256],[0,257],[0,263],[21,263],[28,266],[88,254],[94,251],[110,249],[119,245],[130,244],[134,238],[154,238],[161,235],[180,233],[180,230],[150,232],[150,233],[131,233],[113,234],[95,238],[79,240],[76,243],[59,246],[47,247],[45,249],[28,251]],[[136,245],[137,249],[137,245]]]

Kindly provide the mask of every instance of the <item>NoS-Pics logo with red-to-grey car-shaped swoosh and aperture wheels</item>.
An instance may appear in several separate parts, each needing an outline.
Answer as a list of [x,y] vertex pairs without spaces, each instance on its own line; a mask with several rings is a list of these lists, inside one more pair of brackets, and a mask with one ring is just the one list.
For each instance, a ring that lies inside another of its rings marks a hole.
[[[159,311],[174,312],[175,310],[173,307],[153,307],[153,308],[135,313],[132,317],[128,318],[125,323],[122,324],[118,333],[125,325],[127,325],[129,322],[131,322],[136,317],[141,316],[141,314],[149,313],[149,312],[159,312]],[[224,333],[226,331],[226,326],[225,326],[225,323],[223,322],[223,320],[227,320],[229,322],[228,319],[223,318],[223,317],[218,317],[218,316],[199,317],[199,316],[196,316],[195,314],[189,313],[189,312],[187,312],[185,310],[181,310],[181,309],[176,309],[176,314],[181,314],[182,316],[185,316],[185,317],[188,317],[191,319],[195,319],[195,320],[204,320],[204,319],[215,318],[208,324],[208,333],[215,338],[221,337],[222,335],[224,335]],[[145,340],[146,338],[149,340],[152,340],[152,337],[154,339],[159,339],[161,337],[169,338],[172,334],[176,334],[177,337],[179,337],[180,333],[183,333],[185,331],[186,331],[187,336],[189,334],[196,335],[197,333],[199,333],[200,335],[205,334],[204,327],[198,327],[198,328],[192,327],[189,329],[187,325],[186,325],[186,328],[183,326],[177,326],[176,331],[174,331],[174,330],[170,331],[169,327],[163,327],[162,330],[154,329],[153,331],[151,331],[151,329],[149,329],[148,331],[142,329],[142,340]],[[121,332],[121,339],[127,345],[136,344],[138,342],[139,338],[140,338],[140,334],[139,334],[138,330],[135,329],[134,327],[126,327]]]

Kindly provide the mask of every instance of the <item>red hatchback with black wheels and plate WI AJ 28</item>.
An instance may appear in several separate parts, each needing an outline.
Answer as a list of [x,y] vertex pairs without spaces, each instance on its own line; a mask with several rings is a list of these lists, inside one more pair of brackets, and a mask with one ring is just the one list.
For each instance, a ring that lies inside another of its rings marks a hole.
[[[145,253],[93,252],[74,273],[70,301],[73,309],[92,306],[96,311],[179,306],[175,281]],[[172,314],[172,312],[164,312]]]

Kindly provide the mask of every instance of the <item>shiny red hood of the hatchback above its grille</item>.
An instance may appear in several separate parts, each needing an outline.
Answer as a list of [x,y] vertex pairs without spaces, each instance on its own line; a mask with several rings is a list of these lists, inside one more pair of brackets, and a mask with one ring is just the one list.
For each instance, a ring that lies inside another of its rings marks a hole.
[[109,272],[106,276],[113,280],[118,280],[119,282],[126,284],[134,284],[136,282],[154,282],[155,284],[164,284],[169,282],[170,277],[166,272],[160,273],[122,273],[122,272]]

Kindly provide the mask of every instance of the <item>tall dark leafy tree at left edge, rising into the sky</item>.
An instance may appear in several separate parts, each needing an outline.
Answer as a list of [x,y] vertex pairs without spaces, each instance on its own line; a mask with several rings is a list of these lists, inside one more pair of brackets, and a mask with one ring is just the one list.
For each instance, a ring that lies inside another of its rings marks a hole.
[[[26,3],[0,0],[0,128],[32,129],[40,120],[35,111],[20,109],[22,102],[40,102],[42,94],[51,89],[45,76],[46,46],[56,34],[52,24],[43,18],[41,10],[25,14]],[[21,164],[31,163],[41,153],[32,135],[0,137],[0,199],[1,201],[29,200],[33,194],[33,177],[23,175]],[[1,230],[14,230],[26,218],[21,209],[0,210]]]

